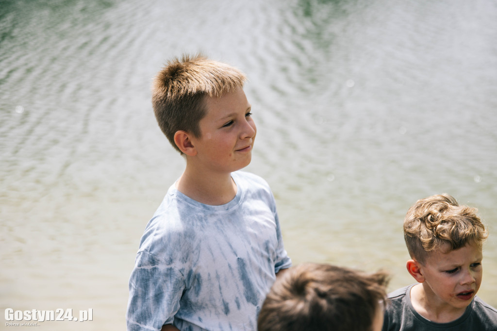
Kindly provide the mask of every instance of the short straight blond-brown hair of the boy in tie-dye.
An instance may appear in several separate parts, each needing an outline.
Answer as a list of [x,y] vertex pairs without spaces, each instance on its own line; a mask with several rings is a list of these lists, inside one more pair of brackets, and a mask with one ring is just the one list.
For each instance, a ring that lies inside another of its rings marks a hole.
[[174,58],[157,74],[152,85],[152,105],[159,127],[171,145],[176,131],[200,137],[199,122],[206,114],[204,98],[220,97],[243,88],[244,73],[202,55]]

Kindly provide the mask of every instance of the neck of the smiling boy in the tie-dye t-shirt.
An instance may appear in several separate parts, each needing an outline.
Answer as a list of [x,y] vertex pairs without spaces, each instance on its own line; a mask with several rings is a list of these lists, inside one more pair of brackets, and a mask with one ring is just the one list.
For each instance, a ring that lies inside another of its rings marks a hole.
[[229,173],[205,173],[186,167],[176,182],[178,191],[200,203],[224,205],[237,195],[237,185]]

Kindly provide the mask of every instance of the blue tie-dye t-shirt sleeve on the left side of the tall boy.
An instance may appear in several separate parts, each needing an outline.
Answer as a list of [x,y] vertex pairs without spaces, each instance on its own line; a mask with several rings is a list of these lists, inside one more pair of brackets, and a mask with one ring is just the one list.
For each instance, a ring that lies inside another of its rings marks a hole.
[[161,330],[172,324],[184,289],[179,270],[147,251],[138,252],[129,280],[128,331]]

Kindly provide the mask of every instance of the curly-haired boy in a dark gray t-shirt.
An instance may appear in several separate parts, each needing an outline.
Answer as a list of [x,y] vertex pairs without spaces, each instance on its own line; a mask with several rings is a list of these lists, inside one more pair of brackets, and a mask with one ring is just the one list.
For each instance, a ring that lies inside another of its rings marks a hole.
[[389,294],[384,331],[497,330],[497,311],[476,296],[488,234],[476,209],[448,194],[418,200],[404,220],[418,282]]

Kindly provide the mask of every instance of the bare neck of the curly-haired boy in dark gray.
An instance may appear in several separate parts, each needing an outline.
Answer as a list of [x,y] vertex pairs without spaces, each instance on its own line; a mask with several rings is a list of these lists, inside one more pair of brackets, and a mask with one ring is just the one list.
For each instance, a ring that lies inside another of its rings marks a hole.
[[430,289],[425,288],[425,283],[414,285],[411,288],[411,303],[413,304],[414,310],[419,315],[435,323],[449,323],[455,321],[460,318],[468,308],[455,308],[440,302]]

